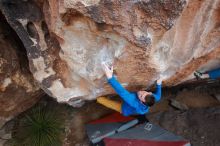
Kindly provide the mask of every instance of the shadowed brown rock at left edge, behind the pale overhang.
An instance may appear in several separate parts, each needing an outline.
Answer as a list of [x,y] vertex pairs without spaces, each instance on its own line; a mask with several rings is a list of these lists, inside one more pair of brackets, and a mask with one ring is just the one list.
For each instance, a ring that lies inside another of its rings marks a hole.
[[[24,47],[0,14],[0,128],[35,104],[40,90],[30,71]],[[22,51],[23,48],[23,51]]]

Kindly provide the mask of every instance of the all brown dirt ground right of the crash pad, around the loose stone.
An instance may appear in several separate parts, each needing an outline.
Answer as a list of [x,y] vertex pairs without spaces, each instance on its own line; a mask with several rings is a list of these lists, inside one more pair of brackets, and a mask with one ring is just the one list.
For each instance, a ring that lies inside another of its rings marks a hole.
[[[220,102],[215,96],[219,93],[219,82],[165,89],[162,102],[147,118],[188,139],[193,146],[219,146]],[[173,108],[170,99],[186,105],[188,110]]]

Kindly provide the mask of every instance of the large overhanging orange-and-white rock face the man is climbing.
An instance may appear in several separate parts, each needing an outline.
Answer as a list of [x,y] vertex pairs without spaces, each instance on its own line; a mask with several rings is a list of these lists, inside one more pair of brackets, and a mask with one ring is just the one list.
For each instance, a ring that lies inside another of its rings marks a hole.
[[220,0],[2,0],[41,88],[74,105],[113,93],[101,62],[138,90],[220,66]]

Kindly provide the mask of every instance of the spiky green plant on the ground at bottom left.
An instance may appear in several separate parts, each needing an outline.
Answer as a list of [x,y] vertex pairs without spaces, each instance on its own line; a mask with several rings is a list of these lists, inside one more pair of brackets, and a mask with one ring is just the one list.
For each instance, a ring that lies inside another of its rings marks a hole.
[[19,120],[14,132],[16,146],[60,146],[64,131],[62,114],[38,106]]

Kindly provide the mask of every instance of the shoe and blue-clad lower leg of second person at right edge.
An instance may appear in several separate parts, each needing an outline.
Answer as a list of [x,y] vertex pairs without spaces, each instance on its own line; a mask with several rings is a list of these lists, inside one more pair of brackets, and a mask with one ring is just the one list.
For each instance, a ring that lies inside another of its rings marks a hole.
[[220,78],[220,68],[211,70],[211,71],[207,71],[204,73],[201,73],[199,71],[195,71],[194,75],[197,79],[206,79],[206,78],[210,78],[210,79],[218,79]]

